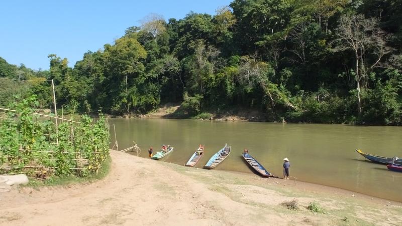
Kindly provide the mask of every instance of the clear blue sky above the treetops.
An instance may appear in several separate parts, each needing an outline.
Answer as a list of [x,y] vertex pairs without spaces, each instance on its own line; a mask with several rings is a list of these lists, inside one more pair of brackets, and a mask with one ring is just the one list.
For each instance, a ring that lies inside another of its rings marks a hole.
[[49,54],[66,57],[69,66],[90,50],[102,49],[139,26],[150,13],[181,19],[190,11],[215,14],[230,0],[11,0],[0,7],[0,57],[28,68],[49,69]]

